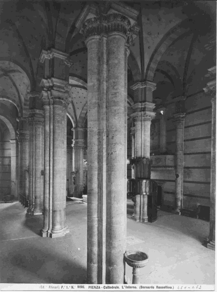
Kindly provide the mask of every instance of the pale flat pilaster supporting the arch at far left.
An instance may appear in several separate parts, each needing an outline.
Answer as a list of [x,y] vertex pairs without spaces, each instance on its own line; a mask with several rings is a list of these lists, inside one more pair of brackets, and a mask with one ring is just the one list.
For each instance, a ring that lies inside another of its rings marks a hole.
[[11,195],[18,199],[18,143],[11,140]]

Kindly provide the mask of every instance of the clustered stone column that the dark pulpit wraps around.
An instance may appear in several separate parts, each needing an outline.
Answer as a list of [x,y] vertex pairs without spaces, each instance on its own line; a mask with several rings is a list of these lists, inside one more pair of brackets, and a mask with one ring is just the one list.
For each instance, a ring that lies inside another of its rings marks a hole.
[[[132,106],[133,114],[131,115],[135,122],[135,159],[133,160],[135,179],[150,180],[150,126],[151,120],[156,115],[153,112],[155,104],[151,101],[156,84],[149,81],[137,82],[131,89],[135,91],[135,101],[137,101]],[[148,196],[137,194],[135,201],[134,214],[131,219],[148,222]]]

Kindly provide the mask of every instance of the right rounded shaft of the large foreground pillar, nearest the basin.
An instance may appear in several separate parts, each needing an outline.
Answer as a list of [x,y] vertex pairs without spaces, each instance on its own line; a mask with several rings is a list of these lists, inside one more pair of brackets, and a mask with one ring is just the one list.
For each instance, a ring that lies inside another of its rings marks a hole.
[[125,43],[125,36],[121,33],[108,35],[106,283],[109,284],[120,283],[123,278],[127,132]]

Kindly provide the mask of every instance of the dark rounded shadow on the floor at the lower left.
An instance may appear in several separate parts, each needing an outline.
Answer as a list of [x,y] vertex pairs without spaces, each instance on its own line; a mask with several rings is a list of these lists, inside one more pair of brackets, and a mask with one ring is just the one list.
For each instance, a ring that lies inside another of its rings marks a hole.
[[[2,259],[1,283],[29,283],[29,279],[31,283],[85,283],[86,269],[69,253],[53,251],[51,247],[49,241],[43,246],[33,241],[31,245],[13,246],[7,258]],[[16,272],[7,273],[8,267],[13,267]]]

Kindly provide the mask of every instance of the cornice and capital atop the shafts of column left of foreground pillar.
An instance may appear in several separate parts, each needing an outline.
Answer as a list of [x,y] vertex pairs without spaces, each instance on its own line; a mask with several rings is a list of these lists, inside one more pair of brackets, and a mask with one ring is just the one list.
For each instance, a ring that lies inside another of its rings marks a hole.
[[65,80],[50,78],[42,79],[40,86],[43,87],[40,98],[43,105],[60,105],[68,107],[69,100],[69,83]]

